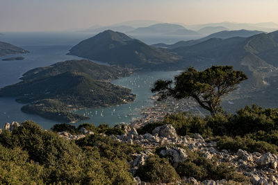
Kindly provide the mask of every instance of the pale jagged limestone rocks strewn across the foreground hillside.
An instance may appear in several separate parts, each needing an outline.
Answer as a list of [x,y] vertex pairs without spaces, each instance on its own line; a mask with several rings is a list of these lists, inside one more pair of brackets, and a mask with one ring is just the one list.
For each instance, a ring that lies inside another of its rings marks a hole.
[[[6,123],[3,130],[13,130],[19,127],[20,124],[13,122]],[[213,159],[217,157],[220,162],[228,162],[230,166],[236,167],[238,172],[243,173],[250,178],[250,184],[278,184],[277,178],[277,155],[267,152],[261,154],[259,152],[249,153],[245,150],[239,149],[238,152],[233,153],[228,150],[219,150],[218,143],[210,139],[203,139],[200,134],[194,134],[194,137],[179,136],[172,125],[163,125],[156,127],[152,134],[138,134],[135,128],[129,125],[117,125],[117,127],[124,127],[124,134],[111,135],[117,141],[139,144],[145,148],[144,152],[134,154],[136,159],[131,162],[131,172],[135,175],[138,166],[145,164],[146,159],[154,155],[154,149],[164,146],[160,151],[160,155],[170,157],[170,160],[175,164],[186,160],[188,157],[187,151],[183,147],[189,148],[192,152],[202,152],[206,159]],[[58,132],[58,134],[65,139],[81,139],[88,134],[95,134],[92,131],[86,130],[84,127],[80,129],[83,134],[72,135],[68,132]],[[0,130],[1,134],[2,130]],[[105,134],[103,134],[106,136]],[[135,177],[137,184],[149,184],[148,182],[141,182],[139,177]],[[220,181],[213,181],[207,179],[203,182],[197,181],[194,177],[184,177],[181,182],[176,184],[235,184],[227,182],[225,179]]]

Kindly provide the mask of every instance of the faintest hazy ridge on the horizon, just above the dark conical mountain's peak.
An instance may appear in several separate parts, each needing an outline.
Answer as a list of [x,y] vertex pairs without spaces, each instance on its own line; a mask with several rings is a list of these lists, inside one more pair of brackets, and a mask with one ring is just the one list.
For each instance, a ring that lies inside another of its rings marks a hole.
[[129,32],[131,30],[134,30],[135,28],[131,27],[131,26],[125,26],[125,25],[118,25],[118,26],[97,26],[97,28],[95,28],[95,26],[93,26],[92,28],[87,28],[85,30],[82,30],[81,32],[85,32],[85,33],[100,33],[103,32],[104,30],[115,30],[115,31],[119,31],[119,32]]

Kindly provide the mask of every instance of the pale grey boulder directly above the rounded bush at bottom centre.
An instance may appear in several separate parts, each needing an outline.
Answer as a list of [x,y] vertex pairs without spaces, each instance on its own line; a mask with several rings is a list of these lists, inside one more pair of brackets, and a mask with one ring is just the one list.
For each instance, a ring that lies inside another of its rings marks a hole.
[[188,155],[186,154],[186,150],[178,147],[166,147],[161,150],[160,155],[170,156],[170,160],[174,163],[179,163],[184,161]]

